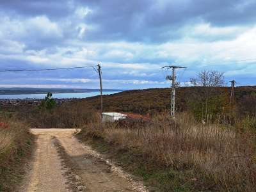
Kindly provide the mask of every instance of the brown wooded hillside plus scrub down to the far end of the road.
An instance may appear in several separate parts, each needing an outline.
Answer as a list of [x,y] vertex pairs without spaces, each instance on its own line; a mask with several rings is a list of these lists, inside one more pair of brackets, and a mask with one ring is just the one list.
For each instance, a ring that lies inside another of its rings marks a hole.
[[[230,123],[243,120],[248,115],[254,119],[256,114],[256,87],[241,86],[235,90],[235,102],[230,106],[230,88],[210,88],[205,95],[202,87],[182,87],[177,89],[177,109],[191,113],[196,120],[215,120]],[[154,116],[170,109],[170,89],[154,88],[130,90],[103,96],[104,112],[129,112]],[[61,102],[51,113],[42,111],[37,104],[20,102],[8,104],[2,110],[17,115],[20,120],[27,120],[33,127],[77,127],[92,118],[92,111],[100,110],[100,97],[88,97]],[[232,113],[230,113],[232,111]],[[252,124],[254,127],[254,124]]]

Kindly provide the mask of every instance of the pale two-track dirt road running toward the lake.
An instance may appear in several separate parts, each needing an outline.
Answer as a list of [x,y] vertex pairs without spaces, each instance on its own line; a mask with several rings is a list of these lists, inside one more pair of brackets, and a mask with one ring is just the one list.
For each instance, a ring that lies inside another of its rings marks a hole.
[[31,168],[19,191],[147,191],[143,184],[74,136],[76,129],[31,129]]

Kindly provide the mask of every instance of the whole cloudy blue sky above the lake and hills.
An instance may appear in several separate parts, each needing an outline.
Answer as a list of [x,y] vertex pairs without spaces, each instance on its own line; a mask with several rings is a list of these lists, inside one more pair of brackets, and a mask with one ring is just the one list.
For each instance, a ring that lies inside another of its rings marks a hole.
[[[1,0],[0,70],[102,65],[103,88],[170,86],[201,70],[256,77],[255,0]],[[0,72],[0,87],[99,88],[93,68]]]

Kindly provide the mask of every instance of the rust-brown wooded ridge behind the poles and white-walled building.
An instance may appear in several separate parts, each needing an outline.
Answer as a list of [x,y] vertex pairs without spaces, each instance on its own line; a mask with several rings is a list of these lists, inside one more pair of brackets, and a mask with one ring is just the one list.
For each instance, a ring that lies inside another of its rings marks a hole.
[[[217,92],[216,100],[229,104],[229,87],[212,88]],[[106,112],[120,111],[146,114],[152,111],[165,111],[170,109],[170,88],[151,88],[145,90],[129,90],[103,96],[103,108]],[[223,96],[224,95],[224,96]],[[186,111],[189,103],[198,102],[204,96],[203,87],[180,87],[177,89],[177,111]],[[256,110],[256,86],[239,86],[235,88],[236,103],[241,113]],[[99,96],[82,99],[84,104],[89,104],[100,109]]]

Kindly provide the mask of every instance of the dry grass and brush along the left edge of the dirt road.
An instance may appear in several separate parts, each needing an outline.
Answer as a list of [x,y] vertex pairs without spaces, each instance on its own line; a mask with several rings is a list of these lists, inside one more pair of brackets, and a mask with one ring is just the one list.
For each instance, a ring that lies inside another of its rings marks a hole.
[[20,182],[22,165],[31,152],[32,139],[26,124],[0,116],[0,191],[14,191]]

